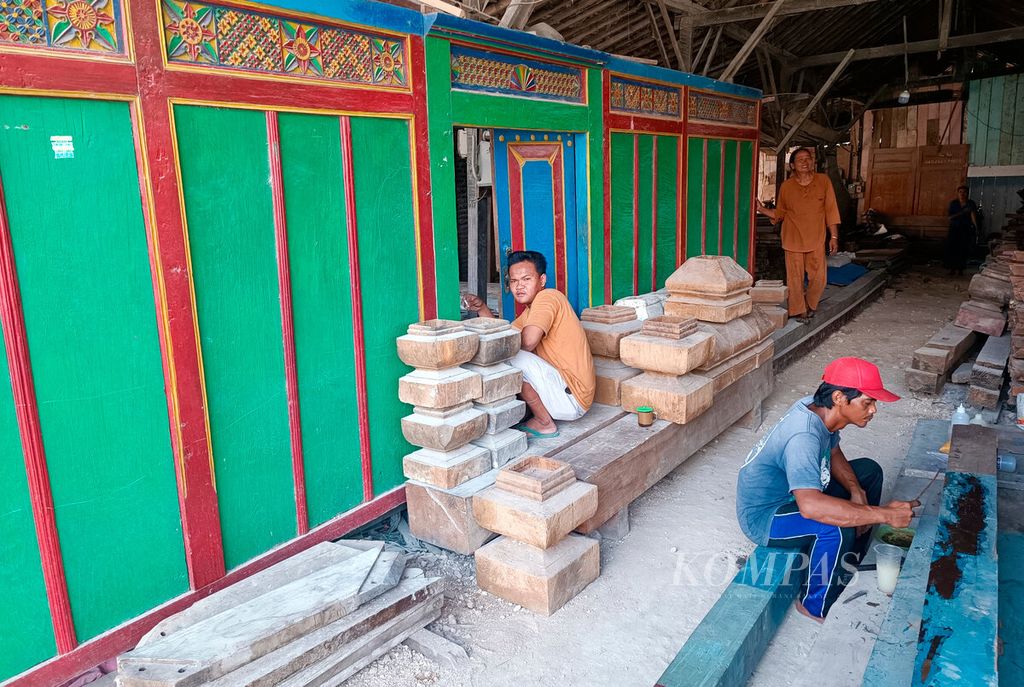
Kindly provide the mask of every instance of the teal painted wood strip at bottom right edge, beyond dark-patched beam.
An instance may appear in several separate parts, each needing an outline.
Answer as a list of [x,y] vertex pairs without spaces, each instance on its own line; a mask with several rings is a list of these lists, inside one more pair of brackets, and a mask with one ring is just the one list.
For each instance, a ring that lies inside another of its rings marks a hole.
[[1024,685],[1024,532],[1001,532],[999,547],[999,685]]

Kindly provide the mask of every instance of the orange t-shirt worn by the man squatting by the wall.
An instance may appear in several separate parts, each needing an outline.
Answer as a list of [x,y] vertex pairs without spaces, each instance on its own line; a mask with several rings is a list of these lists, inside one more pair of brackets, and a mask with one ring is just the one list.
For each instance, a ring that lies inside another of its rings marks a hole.
[[544,338],[534,352],[558,371],[580,406],[589,411],[597,384],[594,358],[583,325],[568,299],[560,291],[544,289],[512,323],[520,332],[529,325],[544,331]]

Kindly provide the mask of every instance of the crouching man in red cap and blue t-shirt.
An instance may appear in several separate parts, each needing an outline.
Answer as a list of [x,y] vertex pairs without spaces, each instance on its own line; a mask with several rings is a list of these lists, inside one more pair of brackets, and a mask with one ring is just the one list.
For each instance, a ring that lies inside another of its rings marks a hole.
[[[804,549],[808,576],[797,609],[818,622],[867,550],[871,525],[906,527],[918,502],[882,500],[882,468],[847,461],[839,431],[864,427],[876,401],[899,400],[879,369],[856,357],[825,368],[813,396],[801,398],[746,457],[736,482],[736,517],[756,544]],[[850,556],[852,554],[852,556]]]

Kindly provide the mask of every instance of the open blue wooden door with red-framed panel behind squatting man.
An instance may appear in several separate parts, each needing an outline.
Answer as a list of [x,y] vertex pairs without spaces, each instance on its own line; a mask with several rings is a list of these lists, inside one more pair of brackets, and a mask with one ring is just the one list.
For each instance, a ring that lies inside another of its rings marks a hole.
[[548,260],[551,289],[579,311],[575,134],[496,129],[495,200],[501,256],[502,316],[521,311],[507,287],[508,255],[538,251]]

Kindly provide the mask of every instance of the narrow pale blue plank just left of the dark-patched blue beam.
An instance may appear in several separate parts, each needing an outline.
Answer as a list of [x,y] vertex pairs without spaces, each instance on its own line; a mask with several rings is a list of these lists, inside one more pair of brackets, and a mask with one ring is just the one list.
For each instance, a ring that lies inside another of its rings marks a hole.
[[923,516],[914,527],[913,544],[903,562],[889,611],[864,670],[864,687],[909,685],[913,680],[921,611],[932,568],[937,527],[935,515]]

